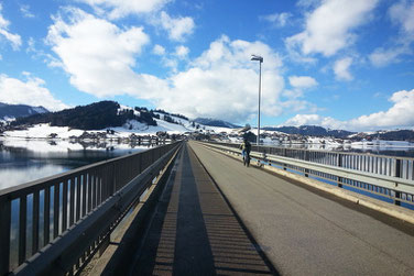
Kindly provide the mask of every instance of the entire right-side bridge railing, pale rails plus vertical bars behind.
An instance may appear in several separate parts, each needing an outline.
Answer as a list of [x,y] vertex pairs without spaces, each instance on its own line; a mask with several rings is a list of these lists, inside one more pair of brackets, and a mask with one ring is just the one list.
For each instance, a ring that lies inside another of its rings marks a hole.
[[[204,142],[205,145],[240,155],[238,144]],[[338,187],[348,186],[414,208],[414,158],[352,153],[252,146],[250,154],[261,164],[322,178]],[[404,173],[405,172],[405,173]]]

